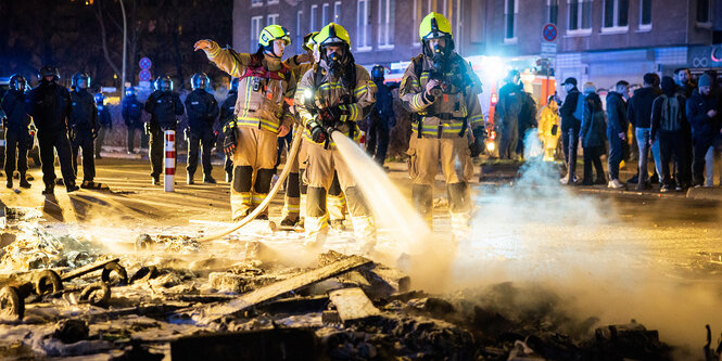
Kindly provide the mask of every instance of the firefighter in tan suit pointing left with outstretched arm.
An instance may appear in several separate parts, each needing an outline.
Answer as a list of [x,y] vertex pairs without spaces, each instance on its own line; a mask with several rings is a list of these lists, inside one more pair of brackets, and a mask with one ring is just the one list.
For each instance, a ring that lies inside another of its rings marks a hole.
[[[236,121],[224,126],[224,151],[233,155],[230,205],[235,221],[245,217],[268,194],[277,138],[286,136],[293,124],[289,103],[296,81],[281,62],[290,43],[289,31],[279,25],[261,31],[254,54],[221,49],[212,40],[195,43],[195,50],[205,51],[216,66],[239,78]],[[257,219],[268,219],[267,210]]]

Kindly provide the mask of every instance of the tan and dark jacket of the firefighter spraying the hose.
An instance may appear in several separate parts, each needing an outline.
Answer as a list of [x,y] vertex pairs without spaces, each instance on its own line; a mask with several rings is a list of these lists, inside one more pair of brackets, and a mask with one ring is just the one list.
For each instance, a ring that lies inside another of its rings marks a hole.
[[[293,103],[297,105],[296,111],[305,128],[304,138],[309,142],[313,140],[307,124],[316,116],[316,106],[319,103],[328,107],[338,105],[343,115],[341,115],[341,119],[338,119],[337,129],[354,140],[360,138],[357,123],[373,108],[376,83],[371,81],[368,72],[363,66],[355,64],[355,69],[356,83],[349,87],[345,87],[340,78],[332,77],[326,70],[325,61],[320,61],[304,74],[299,82]],[[311,95],[314,101],[308,102],[305,99],[307,95]],[[333,143],[331,142],[330,145]]]

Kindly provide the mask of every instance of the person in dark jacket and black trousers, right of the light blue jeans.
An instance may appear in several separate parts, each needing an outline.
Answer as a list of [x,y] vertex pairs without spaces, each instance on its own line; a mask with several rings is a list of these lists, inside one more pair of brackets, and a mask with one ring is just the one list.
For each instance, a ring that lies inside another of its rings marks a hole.
[[689,172],[687,165],[687,138],[689,125],[685,114],[686,100],[677,93],[672,77],[663,77],[661,81],[662,94],[655,99],[651,107],[651,142],[659,140],[662,177],[660,192],[671,190],[670,162],[674,157],[676,168],[677,191],[689,186]]

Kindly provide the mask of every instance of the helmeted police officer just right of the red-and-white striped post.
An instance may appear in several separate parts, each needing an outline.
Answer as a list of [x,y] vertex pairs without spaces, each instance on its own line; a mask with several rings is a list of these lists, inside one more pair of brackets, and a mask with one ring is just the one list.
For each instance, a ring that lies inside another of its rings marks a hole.
[[191,79],[192,91],[186,96],[186,112],[188,114],[188,171],[187,182],[193,184],[193,173],[198,167],[198,152],[202,152],[203,182],[215,183],[211,177],[211,149],[214,143],[213,124],[218,117],[218,102],[205,89],[208,87],[208,76],[205,73],[194,74]]

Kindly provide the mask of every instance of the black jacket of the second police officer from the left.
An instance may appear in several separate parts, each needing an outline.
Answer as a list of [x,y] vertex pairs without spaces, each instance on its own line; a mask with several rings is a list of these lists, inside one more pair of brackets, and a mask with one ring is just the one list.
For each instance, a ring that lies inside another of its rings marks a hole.
[[54,81],[41,80],[25,99],[28,114],[39,133],[67,131],[67,115],[71,113],[71,93]]

